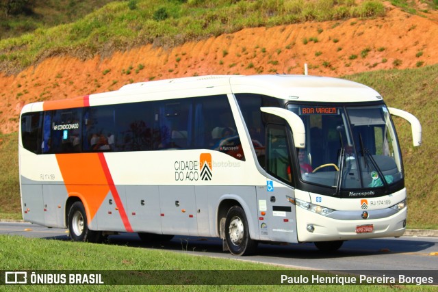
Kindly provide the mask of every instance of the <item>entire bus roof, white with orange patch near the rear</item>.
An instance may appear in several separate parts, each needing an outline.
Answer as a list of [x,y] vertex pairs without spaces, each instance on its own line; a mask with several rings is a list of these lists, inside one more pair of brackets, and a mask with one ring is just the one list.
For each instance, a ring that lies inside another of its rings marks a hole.
[[[208,91],[206,89],[209,89]],[[215,90],[212,90],[215,89]],[[361,83],[333,77],[307,75],[207,75],[183,77],[158,81],[147,81],[124,85],[114,92],[103,92],[80,96],[64,101],[45,101],[23,107],[25,111],[42,109],[62,109],[87,105],[103,105],[144,101],[159,92],[178,92],[177,96],[162,98],[182,98],[227,93],[253,93],[274,96],[291,101],[356,103],[379,101],[380,94]],[[186,94],[186,95],[184,95]],[[124,96],[123,99],[120,97]],[[163,96],[159,94],[159,96]],[[155,97],[157,99],[161,97]],[[94,101],[94,102],[93,102]]]

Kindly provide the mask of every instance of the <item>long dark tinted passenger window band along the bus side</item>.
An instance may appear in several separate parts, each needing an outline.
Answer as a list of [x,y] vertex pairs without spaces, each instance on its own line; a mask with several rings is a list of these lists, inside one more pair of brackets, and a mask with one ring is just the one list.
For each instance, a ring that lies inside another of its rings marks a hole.
[[41,120],[43,153],[213,149],[244,160],[226,95],[45,111]]

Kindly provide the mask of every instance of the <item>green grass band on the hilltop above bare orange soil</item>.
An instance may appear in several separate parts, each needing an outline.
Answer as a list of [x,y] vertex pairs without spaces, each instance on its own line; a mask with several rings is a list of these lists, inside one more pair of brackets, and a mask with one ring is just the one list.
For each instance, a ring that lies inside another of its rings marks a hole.
[[[66,4],[67,1],[60,2]],[[36,1],[34,10],[40,5]],[[91,4],[90,7],[99,5]],[[33,29],[25,30],[34,30],[29,34],[1,40],[0,70],[19,72],[46,57],[61,53],[84,59],[151,43],[172,47],[190,40],[232,33],[244,27],[384,16],[385,8],[379,0],[361,3],[347,0],[130,0],[114,1],[83,15],[74,23],[68,23],[70,18],[61,18],[53,25],[68,24],[49,28],[35,25]],[[318,39],[313,38],[313,41]]]

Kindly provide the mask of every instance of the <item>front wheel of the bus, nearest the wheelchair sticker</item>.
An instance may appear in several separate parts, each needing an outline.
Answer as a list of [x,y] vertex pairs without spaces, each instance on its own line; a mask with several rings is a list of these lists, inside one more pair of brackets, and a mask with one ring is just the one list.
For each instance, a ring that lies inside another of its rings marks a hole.
[[246,256],[257,249],[257,241],[250,239],[245,211],[240,206],[231,207],[227,213],[225,240],[231,254],[236,256]]

